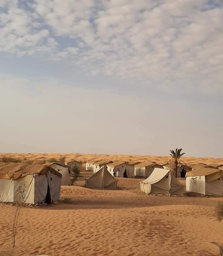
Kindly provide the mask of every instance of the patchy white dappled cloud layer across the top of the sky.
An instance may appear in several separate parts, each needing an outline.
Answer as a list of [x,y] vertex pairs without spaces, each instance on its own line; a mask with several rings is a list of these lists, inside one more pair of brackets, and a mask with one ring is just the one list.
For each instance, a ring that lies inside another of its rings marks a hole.
[[64,59],[83,73],[129,79],[167,92],[223,92],[221,1],[0,4],[0,51]]

